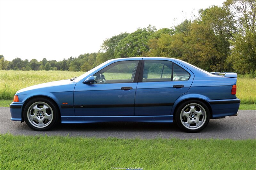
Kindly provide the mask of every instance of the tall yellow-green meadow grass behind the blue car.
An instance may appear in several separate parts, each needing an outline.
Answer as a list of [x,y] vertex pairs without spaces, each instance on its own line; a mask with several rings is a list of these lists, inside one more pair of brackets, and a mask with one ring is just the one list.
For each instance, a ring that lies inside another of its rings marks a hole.
[[[70,79],[83,72],[0,70],[0,100],[13,99],[19,89],[44,82]],[[256,104],[256,79],[239,76],[236,96],[241,104]]]

